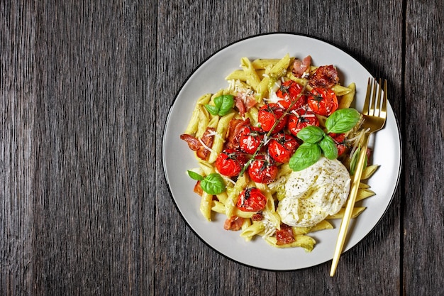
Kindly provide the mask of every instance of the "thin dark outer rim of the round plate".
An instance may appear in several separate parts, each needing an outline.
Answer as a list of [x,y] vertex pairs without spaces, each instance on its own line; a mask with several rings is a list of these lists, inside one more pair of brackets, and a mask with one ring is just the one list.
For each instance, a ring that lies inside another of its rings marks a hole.
[[[207,242],[201,236],[201,234],[199,234],[189,224],[189,221],[185,218],[184,213],[182,213],[182,211],[179,209],[177,201],[176,201],[176,199],[174,199],[174,196],[172,194],[172,188],[171,188],[171,184],[169,182],[168,176],[167,176],[167,168],[166,168],[166,163],[165,163],[165,141],[166,141],[165,136],[166,136],[166,132],[167,132],[167,126],[168,126],[168,123],[170,121],[170,116],[172,114],[172,106],[174,106],[174,103],[177,101],[177,98],[179,97],[179,94],[182,92],[182,89],[184,89],[185,84],[187,84],[187,82],[189,82],[190,78],[202,67],[202,65],[204,65],[208,60],[210,60],[211,57],[213,57],[214,55],[217,55],[218,53],[221,53],[221,51],[223,51],[226,48],[229,48],[232,45],[235,45],[237,43],[241,43],[241,42],[243,42],[245,40],[249,40],[249,39],[260,38],[260,37],[266,36],[266,35],[290,35],[290,36],[299,36],[299,37],[304,37],[304,38],[309,38],[309,39],[321,41],[322,43],[326,43],[328,45],[331,45],[331,46],[333,46],[333,48],[336,48],[336,49],[342,51],[343,53],[345,53],[346,55],[349,55],[350,57],[353,58],[353,60],[355,60],[355,62],[357,62],[361,67],[363,67],[365,70],[367,70],[367,72],[369,72],[371,74],[370,70],[368,70],[367,67],[365,67],[365,65],[363,65],[362,62],[360,62],[360,60],[358,60],[353,54],[349,53],[347,50],[341,48],[338,45],[335,45],[334,43],[331,43],[330,41],[324,40],[323,38],[318,38],[316,36],[309,35],[309,34],[276,31],[276,32],[267,32],[267,33],[259,33],[259,34],[255,34],[255,35],[249,35],[249,36],[240,38],[238,40],[235,40],[235,41],[233,41],[231,43],[227,43],[226,45],[223,45],[221,48],[218,48],[218,50],[215,50],[213,53],[211,53],[211,55],[209,55],[208,57],[204,58],[204,60],[202,60],[198,65],[196,65],[196,67],[193,68],[192,72],[190,72],[189,75],[187,75],[187,77],[183,80],[182,84],[180,84],[180,86],[179,86],[179,89],[174,94],[174,99],[172,100],[172,102],[171,102],[171,104],[169,106],[169,111],[168,111],[167,117],[165,119],[164,128],[162,129],[162,131],[163,131],[163,133],[162,133],[162,170],[163,170],[163,177],[164,177],[165,183],[167,184],[167,190],[170,193],[170,198],[172,199],[172,202],[174,203],[174,207],[177,209],[177,212],[179,213],[179,215],[182,217],[182,219],[187,224],[187,228],[189,230],[191,230],[199,238],[199,240],[201,242],[203,242],[206,246],[209,246],[209,248],[211,248],[213,251],[215,251],[219,255],[223,256],[224,258],[227,258],[230,261],[233,261],[233,262],[238,263],[240,265],[247,266],[249,268],[255,268],[255,269],[258,269],[258,270],[267,270],[267,271],[291,272],[291,271],[294,271],[294,270],[305,270],[307,268],[313,268],[315,266],[318,266],[318,265],[321,265],[321,264],[325,264],[328,261],[332,260],[333,253],[332,253],[332,258],[327,259],[326,261],[315,263],[313,265],[309,265],[309,266],[306,266],[306,267],[303,267],[303,268],[287,268],[287,269],[264,268],[264,267],[260,267],[260,266],[256,266],[256,265],[252,265],[252,264],[248,264],[248,263],[245,263],[245,262],[238,261],[235,258],[231,258],[231,256],[228,256],[227,254],[223,253],[222,251],[219,251],[215,246],[212,246],[211,243]],[[390,102],[389,102],[389,104],[390,104]],[[392,107],[392,106],[390,106],[390,107]],[[369,236],[370,233],[372,233],[374,231],[374,229],[381,223],[382,219],[387,214],[389,208],[392,207],[394,196],[399,191],[399,181],[401,179],[401,174],[402,174],[402,170],[403,170],[403,162],[402,162],[403,149],[402,149],[402,137],[401,137],[402,135],[401,135],[401,128],[399,126],[399,119],[397,118],[397,116],[396,116],[396,114],[394,112],[393,112],[393,116],[394,116],[394,121],[395,121],[395,124],[396,124],[396,131],[397,131],[398,136],[399,136],[399,142],[397,143],[398,144],[398,148],[399,148],[399,168],[397,168],[396,181],[393,182],[394,190],[393,190],[392,196],[390,197],[389,202],[387,202],[387,207],[384,209],[384,212],[382,212],[382,214],[379,217],[379,219],[377,220],[377,222],[374,223],[374,226],[372,226],[372,228],[367,232],[367,234],[365,234],[365,236],[362,236],[362,239],[360,239],[360,241],[357,241],[357,243],[355,243],[353,246],[350,246],[350,248],[345,249],[343,251],[343,254],[348,253],[353,248],[355,248],[358,244],[362,243],[362,241],[367,236]]]

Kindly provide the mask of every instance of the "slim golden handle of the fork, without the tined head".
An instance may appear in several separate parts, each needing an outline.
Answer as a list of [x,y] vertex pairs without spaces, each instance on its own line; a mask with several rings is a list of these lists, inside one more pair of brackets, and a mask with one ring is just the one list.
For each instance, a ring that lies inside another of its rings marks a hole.
[[338,241],[336,241],[335,253],[333,254],[333,261],[330,270],[331,277],[335,275],[336,268],[338,267],[339,257],[343,251],[344,242],[347,237],[348,226],[350,224],[353,208],[355,207],[357,190],[361,182],[362,169],[364,167],[365,155],[367,153],[369,136],[370,133],[364,134],[362,148],[360,150],[359,158],[357,159],[355,175],[353,175],[352,187],[350,188],[350,194],[348,196],[347,206],[345,207],[343,220],[340,223]]

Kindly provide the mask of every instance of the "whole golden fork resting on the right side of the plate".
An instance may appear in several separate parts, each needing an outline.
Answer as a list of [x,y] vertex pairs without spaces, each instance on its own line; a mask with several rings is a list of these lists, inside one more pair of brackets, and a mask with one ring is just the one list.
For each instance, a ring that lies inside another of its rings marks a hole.
[[367,84],[367,94],[365,95],[364,109],[362,109],[362,116],[364,117],[362,128],[368,131],[364,134],[362,148],[360,150],[359,158],[357,159],[355,174],[353,175],[352,187],[348,196],[347,206],[345,207],[343,221],[340,223],[338,241],[336,241],[335,253],[333,255],[333,262],[330,270],[331,277],[335,275],[336,268],[338,267],[339,257],[343,251],[345,238],[347,237],[352,210],[353,207],[355,207],[357,189],[361,180],[362,168],[365,163],[369,136],[371,133],[379,131],[381,128],[383,128],[385,119],[387,118],[387,80],[384,80],[384,95],[382,96],[381,79],[379,79],[378,83],[376,79],[372,80],[369,78]]

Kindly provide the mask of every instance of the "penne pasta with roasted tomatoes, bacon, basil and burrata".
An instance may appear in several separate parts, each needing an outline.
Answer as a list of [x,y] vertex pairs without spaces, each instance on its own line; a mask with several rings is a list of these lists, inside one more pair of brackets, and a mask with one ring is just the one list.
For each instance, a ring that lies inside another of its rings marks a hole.
[[[180,136],[194,151],[200,212],[246,241],[262,237],[277,248],[312,251],[314,231],[332,229],[348,197],[359,154],[361,114],[351,108],[355,84],[340,84],[333,65],[311,57],[250,60],[227,87],[197,99]],[[377,165],[366,165],[361,180]],[[357,199],[374,195],[361,182]],[[364,207],[355,207],[353,216]]]

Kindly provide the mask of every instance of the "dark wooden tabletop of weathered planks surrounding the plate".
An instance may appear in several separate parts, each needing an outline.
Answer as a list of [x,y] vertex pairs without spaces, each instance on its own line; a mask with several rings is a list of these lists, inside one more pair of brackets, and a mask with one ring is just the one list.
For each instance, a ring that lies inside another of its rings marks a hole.
[[[443,1],[0,1],[0,295],[443,295],[443,22]],[[387,78],[401,128],[393,202],[334,278],[213,251],[162,170],[184,80],[278,31]]]

